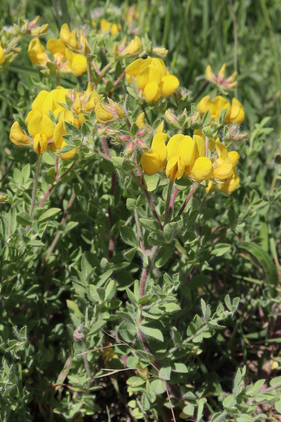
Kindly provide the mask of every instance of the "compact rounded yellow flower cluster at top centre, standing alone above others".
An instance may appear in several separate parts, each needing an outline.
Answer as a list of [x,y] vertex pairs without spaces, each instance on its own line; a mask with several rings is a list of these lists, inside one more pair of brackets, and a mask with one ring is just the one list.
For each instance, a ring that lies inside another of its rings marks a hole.
[[128,83],[132,76],[136,79],[142,97],[151,104],[160,97],[167,98],[179,87],[179,80],[166,69],[165,63],[159,58],[136,59],[125,69]]

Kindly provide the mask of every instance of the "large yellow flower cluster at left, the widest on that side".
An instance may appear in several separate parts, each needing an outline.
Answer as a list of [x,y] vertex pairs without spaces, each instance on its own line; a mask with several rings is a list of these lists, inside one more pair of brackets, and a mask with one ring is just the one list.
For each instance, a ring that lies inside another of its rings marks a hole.
[[[66,104],[65,95],[72,100],[71,109],[64,108],[59,104]],[[93,89],[91,82],[82,95],[62,87],[57,87],[51,92],[42,90],[33,101],[32,110],[29,111],[25,119],[29,136],[21,130],[19,122],[14,122],[10,131],[10,140],[19,148],[33,147],[38,155],[48,149],[58,153],[63,160],[69,160],[75,156],[78,148],[69,147],[68,151],[59,152],[64,146],[67,146],[67,142],[63,138],[63,135],[67,134],[65,122],[80,127],[85,120],[83,113],[94,109],[96,97],[99,95]],[[50,112],[56,117],[56,124],[50,119]]]

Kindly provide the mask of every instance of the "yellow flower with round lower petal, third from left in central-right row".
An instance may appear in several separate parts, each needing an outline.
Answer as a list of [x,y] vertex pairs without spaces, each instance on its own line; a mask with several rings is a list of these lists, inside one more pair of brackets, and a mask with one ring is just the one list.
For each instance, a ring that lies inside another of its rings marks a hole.
[[206,157],[205,141],[199,135],[193,135],[193,142],[195,143],[195,154],[193,162],[185,166],[184,174],[190,177],[195,182],[209,179],[214,172],[211,160]]

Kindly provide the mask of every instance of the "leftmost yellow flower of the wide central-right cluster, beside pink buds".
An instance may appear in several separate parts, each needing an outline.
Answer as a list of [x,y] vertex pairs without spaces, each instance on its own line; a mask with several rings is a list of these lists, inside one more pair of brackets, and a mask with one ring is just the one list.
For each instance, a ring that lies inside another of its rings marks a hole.
[[148,176],[163,171],[166,167],[167,148],[165,141],[167,137],[166,133],[156,133],[153,136],[150,151],[142,154],[141,165]]

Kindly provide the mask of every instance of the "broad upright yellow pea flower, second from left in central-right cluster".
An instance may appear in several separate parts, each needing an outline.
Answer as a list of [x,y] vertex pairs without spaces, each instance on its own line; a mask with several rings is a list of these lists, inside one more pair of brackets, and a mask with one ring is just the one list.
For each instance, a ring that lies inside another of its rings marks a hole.
[[180,179],[185,167],[193,163],[195,142],[188,135],[174,135],[167,144],[166,176],[171,180]]

